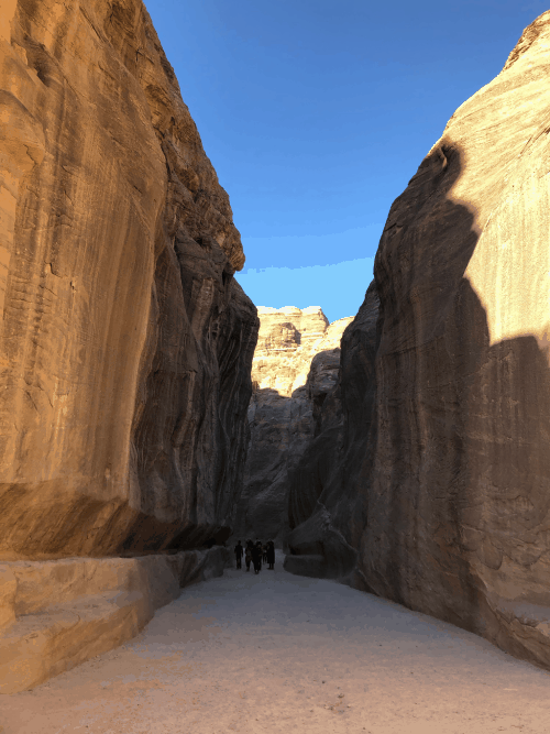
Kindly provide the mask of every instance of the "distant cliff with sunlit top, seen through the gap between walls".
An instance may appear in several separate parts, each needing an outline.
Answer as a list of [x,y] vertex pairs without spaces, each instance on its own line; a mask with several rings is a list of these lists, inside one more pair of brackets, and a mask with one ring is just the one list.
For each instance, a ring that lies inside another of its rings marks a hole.
[[315,415],[338,377],[340,339],[352,320],[329,325],[311,306],[257,309],[260,335],[252,362],[251,439],[234,537],[284,544],[288,487],[315,431]]

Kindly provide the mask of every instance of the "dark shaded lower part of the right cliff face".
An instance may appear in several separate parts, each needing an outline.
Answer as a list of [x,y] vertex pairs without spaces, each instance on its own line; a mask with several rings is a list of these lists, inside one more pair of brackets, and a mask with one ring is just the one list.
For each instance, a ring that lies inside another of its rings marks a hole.
[[474,216],[448,197],[459,173],[452,145],[428,156],[376,256],[377,431],[353,583],[549,665],[548,350],[535,335],[490,343],[464,277]]

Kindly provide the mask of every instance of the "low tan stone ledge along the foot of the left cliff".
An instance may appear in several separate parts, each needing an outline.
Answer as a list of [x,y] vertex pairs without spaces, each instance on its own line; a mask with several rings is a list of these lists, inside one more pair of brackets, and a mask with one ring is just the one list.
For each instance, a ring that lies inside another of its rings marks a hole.
[[0,565],[0,584],[11,588],[4,609],[13,617],[0,635],[0,693],[34,688],[123,644],[183,587],[222,576],[228,560],[228,549],[216,546],[141,558]]

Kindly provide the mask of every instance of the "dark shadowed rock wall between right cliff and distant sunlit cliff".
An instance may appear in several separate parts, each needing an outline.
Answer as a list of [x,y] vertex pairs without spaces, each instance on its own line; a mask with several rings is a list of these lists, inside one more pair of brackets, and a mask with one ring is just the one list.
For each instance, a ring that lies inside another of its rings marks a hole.
[[363,484],[373,461],[377,317],[372,283],[343,332],[338,380],[314,401],[314,430],[289,474],[285,568],[293,573],[342,578],[358,560],[366,524]]

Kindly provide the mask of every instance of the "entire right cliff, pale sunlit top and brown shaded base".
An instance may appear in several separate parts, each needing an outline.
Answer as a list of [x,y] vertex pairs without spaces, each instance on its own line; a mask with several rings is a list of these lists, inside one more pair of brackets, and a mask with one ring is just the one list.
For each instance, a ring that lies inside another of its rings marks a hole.
[[354,581],[547,666],[549,52],[547,12],[389,211]]

